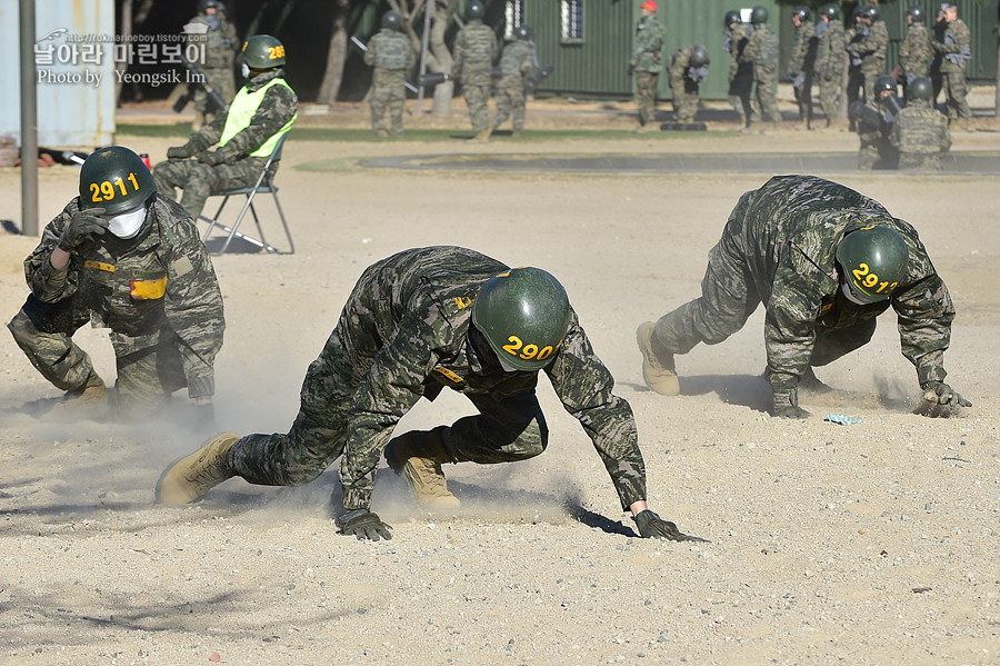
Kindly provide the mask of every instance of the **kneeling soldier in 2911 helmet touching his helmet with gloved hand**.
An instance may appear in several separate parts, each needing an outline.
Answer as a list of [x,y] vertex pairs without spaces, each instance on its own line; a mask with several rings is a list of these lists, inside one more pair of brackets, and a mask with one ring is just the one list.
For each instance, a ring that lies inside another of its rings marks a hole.
[[31,364],[67,391],[67,416],[103,416],[109,394],[73,342],[87,321],[111,329],[114,405],[142,418],[187,387],[210,420],[222,295],[191,217],[158,197],[134,152],[102,148],[83,162],[80,196],[24,260],[31,295],[8,328]]

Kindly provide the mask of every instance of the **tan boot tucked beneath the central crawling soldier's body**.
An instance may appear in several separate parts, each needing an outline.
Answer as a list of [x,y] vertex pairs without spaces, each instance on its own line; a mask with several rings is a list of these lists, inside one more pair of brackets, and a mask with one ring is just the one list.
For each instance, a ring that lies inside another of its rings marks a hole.
[[393,437],[386,447],[386,461],[407,479],[417,501],[431,509],[456,509],[458,497],[448,490],[441,463],[451,458],[444,451],[438,429],[411,430]]

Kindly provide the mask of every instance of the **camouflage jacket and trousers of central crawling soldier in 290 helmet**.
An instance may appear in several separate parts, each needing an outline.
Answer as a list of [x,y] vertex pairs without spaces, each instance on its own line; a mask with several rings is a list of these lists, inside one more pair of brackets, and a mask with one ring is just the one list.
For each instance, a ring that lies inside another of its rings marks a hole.
[[[249,435],[229,454],[252,484],[306,484],[341,457],[343,508],[368,508],[379,457],[397,423],[443,388],[480,411],[444,428],[456,461],[523,460],[548,444],[534,395],[538,372],[506,372],[468,344],[479,288],[507,267],[457,247],[406,250],[358,280],[319,358],[309,366],[301,408],[287,435]],[[629,404],[571,312],[556,360],[544,368],[563,407],[593,441],[622,508],[646,498],[646,471]]]

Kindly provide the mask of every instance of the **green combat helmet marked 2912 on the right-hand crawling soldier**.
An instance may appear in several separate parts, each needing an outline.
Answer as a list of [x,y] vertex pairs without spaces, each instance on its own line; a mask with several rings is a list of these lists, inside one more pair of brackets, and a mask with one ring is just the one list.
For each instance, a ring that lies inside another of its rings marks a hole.
[[837,262],[851,294],[864,302],[892,296],[907,270],[907,242],[894,229],[861,227],[837,246]]

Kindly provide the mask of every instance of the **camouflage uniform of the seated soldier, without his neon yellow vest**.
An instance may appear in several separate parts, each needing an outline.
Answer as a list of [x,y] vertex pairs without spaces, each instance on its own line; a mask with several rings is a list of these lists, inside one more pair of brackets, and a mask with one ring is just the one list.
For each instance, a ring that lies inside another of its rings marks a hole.
[[[277,78],[284,78],[284,70],[277,69],[253,77],[246,87],[250,91],[260,90]],[[294,120],[298,107],[299,100],[291,89],[284,86],[272,86],[260,102],[249,126],[230,139],[226,146],[218,148],[218,152],[226,158],[223,163],[212,167],[194,160],[160,162],[153,169],[157,191],[176,199],[174,188],[182,188],[184,193],[181,205],[191,217],[197,219],[204,208],[204,201],[212,192],[249,187],[257,182],[268,158],[250,157],[249,153]],[[214,146],[222,136],[226,118],[226,116],[219,116],[210,125],[191,135],[188,142],[197,151]]]

